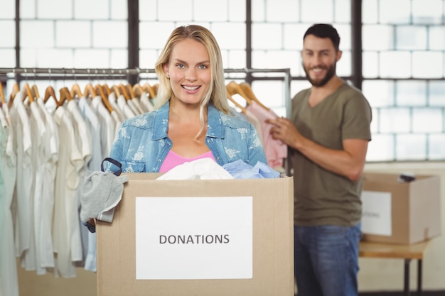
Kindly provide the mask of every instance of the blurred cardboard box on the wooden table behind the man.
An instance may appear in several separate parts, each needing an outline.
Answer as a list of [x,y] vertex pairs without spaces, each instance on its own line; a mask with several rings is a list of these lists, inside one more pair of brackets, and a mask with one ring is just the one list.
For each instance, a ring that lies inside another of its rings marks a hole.
[[439,176],[415,177],[400,182],[397,174],[365,173],[363,241],[407,244],[441,234]]

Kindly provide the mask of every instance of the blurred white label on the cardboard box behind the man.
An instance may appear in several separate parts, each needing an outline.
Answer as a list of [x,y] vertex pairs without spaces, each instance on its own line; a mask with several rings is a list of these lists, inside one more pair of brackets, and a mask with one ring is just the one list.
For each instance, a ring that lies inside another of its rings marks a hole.
[[362,232],[378,236],[392,235],[391,192],[362,192]]

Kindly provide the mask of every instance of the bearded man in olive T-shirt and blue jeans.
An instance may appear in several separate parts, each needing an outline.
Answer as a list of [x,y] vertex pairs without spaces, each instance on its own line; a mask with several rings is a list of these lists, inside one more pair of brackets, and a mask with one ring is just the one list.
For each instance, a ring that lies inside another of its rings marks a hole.
[[294,171],[294,272],[299,296],[357,295],[362,172],[371,109],[336,75],[340,37],[316,24],[301,58],[312,87],[292,100],[291,120],[269,121]]

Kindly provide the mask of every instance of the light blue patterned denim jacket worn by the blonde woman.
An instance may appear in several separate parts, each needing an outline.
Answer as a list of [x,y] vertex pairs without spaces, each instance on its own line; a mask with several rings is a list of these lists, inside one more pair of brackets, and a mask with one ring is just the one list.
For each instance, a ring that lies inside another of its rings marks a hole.
[[[172,142],[167,136],[169,102],[160,109],[122,123],[109,157],[122,164],[122,172],[159,172]],[[219,165],[243,160],[250,165],[267,163],[254,126],[208,106],[205,143]]]

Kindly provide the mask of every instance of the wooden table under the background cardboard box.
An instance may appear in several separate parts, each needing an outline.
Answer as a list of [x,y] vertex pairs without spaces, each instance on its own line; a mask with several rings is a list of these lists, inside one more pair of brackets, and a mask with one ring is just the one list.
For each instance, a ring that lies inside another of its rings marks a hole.
[[363,258],[404,259],[404,295],[409,291],[409,263],[417,259],[417,295],[422,295],[422,260],[429,241],[409,245],[360,241],[359,256]]

